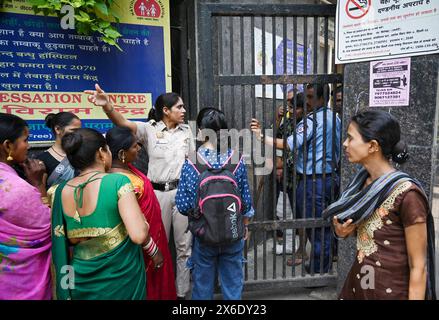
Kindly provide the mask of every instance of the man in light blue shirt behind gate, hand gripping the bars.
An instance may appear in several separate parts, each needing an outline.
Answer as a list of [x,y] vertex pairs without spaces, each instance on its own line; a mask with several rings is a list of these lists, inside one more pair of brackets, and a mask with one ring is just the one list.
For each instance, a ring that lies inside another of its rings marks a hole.
[[[306,117],[297,125],[296,132],[287,139],[288,148],[297,152],[296,171],[298,185],[296,189],[297,217],[321,218],[326,208],[339,191],[338,167],[340,161],[339,117],[327,107],[329,86],[327,84],[308,84],[306,86]],[[264,138],[268,145],[284,148],[283,139],[273,139],[261,133],[259,121],[252,119],[251,129],[260,140]],[[325,173],[325,177],[324,177]],[[315,175],[315,180],[313,176]],[[292,179],[292,177],[288,177]],[[333,195],[333,196],[331,196]],[[323,236],[322,236],[323,232]],[[312,244],[311,263],[306,266],[308,272],[320,272],[321,256],[323,256],[322,272],[330,267],[331,236],[330,227],[306,230]],[[322,253],[323,251],[323,253]]]

